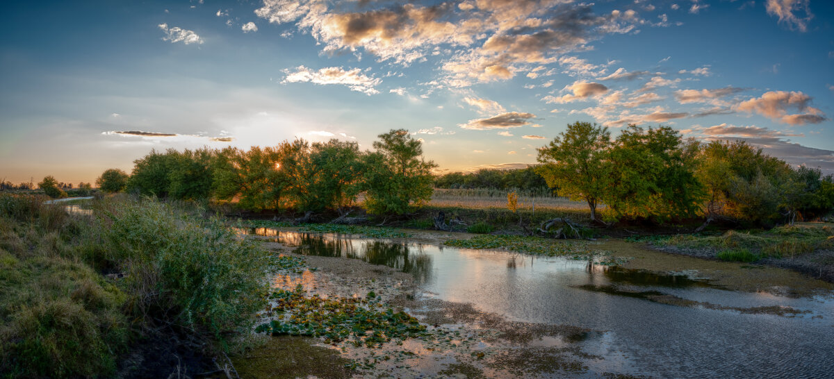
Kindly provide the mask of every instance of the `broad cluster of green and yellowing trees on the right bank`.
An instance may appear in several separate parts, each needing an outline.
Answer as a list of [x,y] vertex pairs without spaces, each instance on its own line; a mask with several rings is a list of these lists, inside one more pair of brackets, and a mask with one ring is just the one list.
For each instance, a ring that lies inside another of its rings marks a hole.
[[684,141],[671,127],[606,127],[575,122],[539,150],[535,167],[562,196],[587,202],[591,220],[702,216],[770,224],[834,208],[834,177],[791,167],[746,142]]

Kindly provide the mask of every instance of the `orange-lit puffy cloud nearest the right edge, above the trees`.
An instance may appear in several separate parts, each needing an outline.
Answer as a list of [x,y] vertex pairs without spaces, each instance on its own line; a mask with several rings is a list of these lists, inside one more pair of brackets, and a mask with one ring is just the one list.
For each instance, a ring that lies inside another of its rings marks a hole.
[[[758,98],[740,102],[735,109],[741,112],[756,112],[776,122],[789,125],[820,123],[826,121],[821,110],[811,107],[811,97],[802,92],[771,91]],[[795,109],[795,114],[788,114]]]

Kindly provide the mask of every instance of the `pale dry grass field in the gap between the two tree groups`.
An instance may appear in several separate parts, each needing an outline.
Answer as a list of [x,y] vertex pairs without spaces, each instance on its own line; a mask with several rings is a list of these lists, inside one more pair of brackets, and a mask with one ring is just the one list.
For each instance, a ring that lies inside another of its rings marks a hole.
[[[587,209],[585,202],[573,202],[566,197],[552,197],[535,193],[519,193],[519,209],[530,210],[535,204],[536,210]],[[430,207],[460,207],[460,208],[506,208],[507,192],[490,189],[443,189],[435,188]]]

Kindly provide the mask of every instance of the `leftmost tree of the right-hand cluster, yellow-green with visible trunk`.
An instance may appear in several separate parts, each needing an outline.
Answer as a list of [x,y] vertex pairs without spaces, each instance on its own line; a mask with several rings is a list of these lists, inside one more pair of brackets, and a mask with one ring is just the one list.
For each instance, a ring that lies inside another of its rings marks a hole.
[[560,196],[584,200],[590,208],[590,219],[596,221],[596,207],[610,191],[610,132],[589,122],[568,125],[548,146],[539,149],[536,172],[550,187],[557,187]]

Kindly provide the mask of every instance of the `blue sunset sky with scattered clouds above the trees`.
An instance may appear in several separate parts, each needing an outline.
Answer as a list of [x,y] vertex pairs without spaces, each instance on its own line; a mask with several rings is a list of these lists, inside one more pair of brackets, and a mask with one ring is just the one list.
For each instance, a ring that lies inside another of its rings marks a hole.
[[573,122],[744,139],[834,172],[829,0],[4,4],[0,179],[152,149],[405,128],[440,170],[525,167]]

